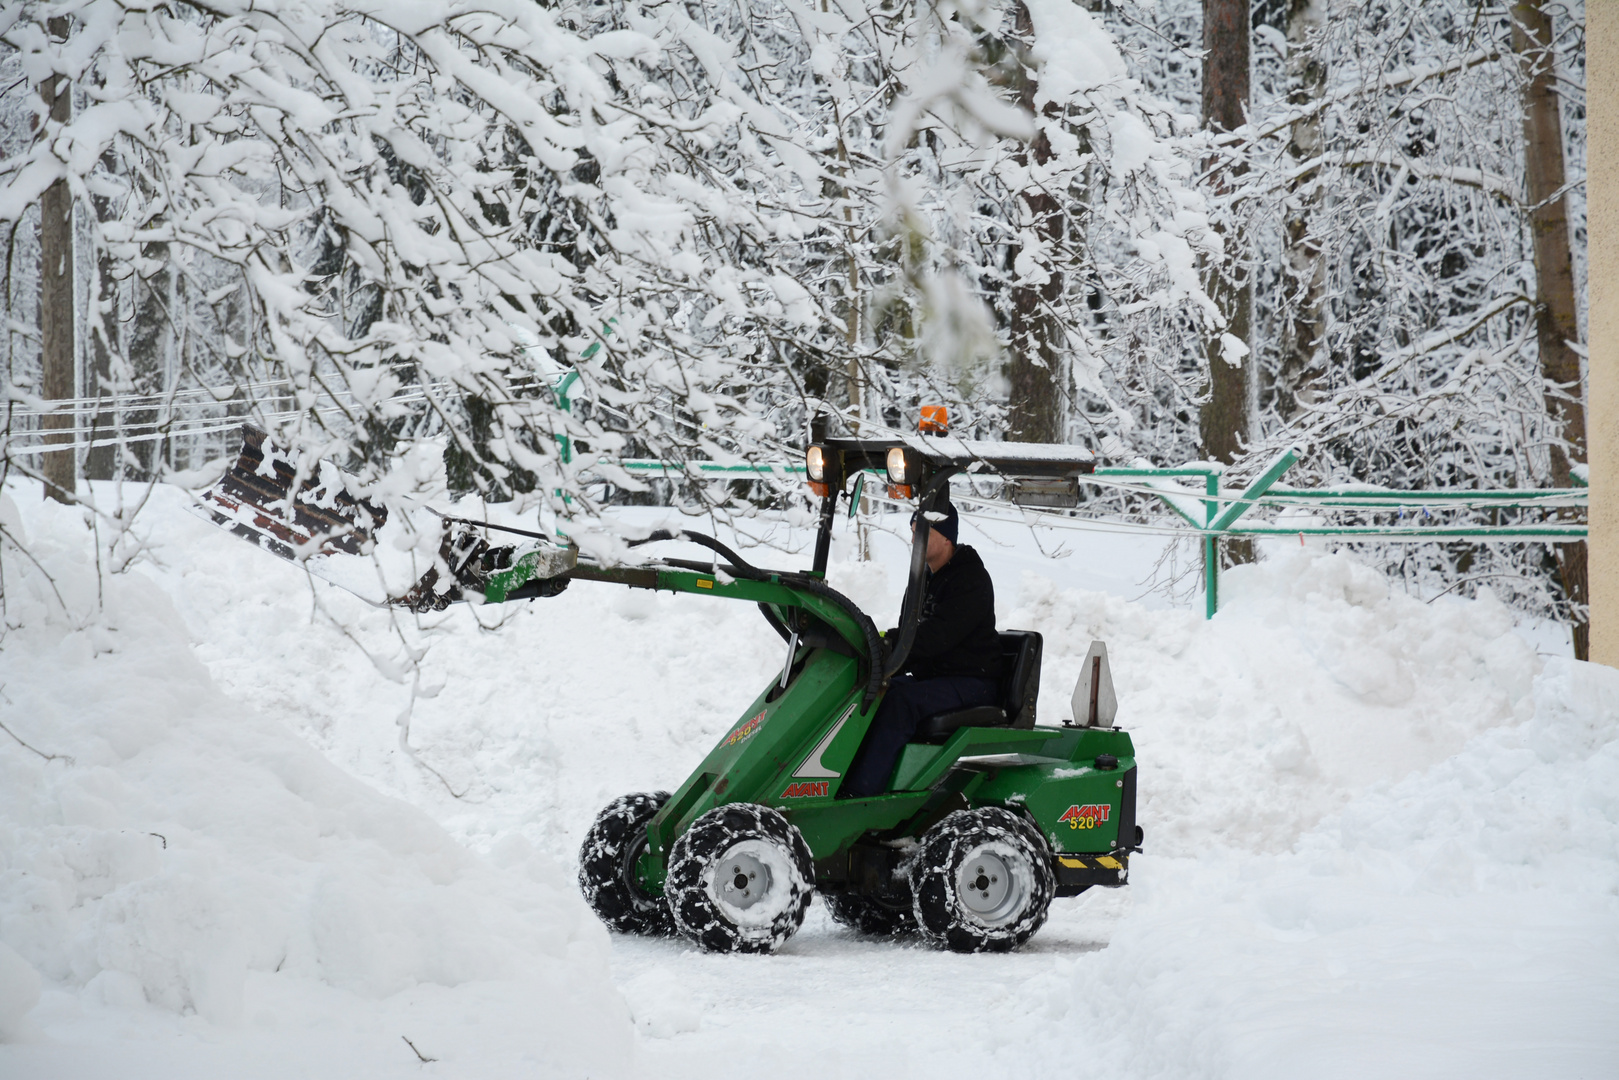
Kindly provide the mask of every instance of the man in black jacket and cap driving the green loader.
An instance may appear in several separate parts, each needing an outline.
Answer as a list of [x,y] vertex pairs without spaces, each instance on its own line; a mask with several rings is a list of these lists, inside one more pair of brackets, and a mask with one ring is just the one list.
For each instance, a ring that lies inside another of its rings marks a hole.
[[[978,552],[955,542],[960,528],[955,505],[945,502],[942,515],[929,517],[928,586],[905,672],[889,680],[871,730],[848,766],[842,795],[881,795],[900,750],[929,716],[994,704],[999,698],[996,588]],[[889,630],[886,638],[892,641],[895,635]]]

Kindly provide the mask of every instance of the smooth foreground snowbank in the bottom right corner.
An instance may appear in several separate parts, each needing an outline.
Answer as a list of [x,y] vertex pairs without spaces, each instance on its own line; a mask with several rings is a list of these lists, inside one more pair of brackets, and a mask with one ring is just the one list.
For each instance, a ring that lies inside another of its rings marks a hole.
[[1619,672],[1551,661],[1535,701],[1287,855],[1138,860],[1107,950],[1031,997],[1151,1031],[1128,1075],[1611,1075]]

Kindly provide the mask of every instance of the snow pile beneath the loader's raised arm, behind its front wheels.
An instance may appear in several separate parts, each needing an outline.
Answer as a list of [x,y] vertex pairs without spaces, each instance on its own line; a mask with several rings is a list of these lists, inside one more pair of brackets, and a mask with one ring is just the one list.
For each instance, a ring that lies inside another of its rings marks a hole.
[[[155,563],[141,573],[173,597],[215,680],[476,850],[518,837],[575,865],[607,801],[677,785],[780,665],[782,641],[751,604],[586,581],[555,599],[400,617],[311,583],[183,505],[173,489],[154,494],[138,528]],[[886,596],[881,570],[868,576]],[[392,669],[395,619],[424,657],[416,685],[355,648]],[[398,751],[406,711],[414,756]]]

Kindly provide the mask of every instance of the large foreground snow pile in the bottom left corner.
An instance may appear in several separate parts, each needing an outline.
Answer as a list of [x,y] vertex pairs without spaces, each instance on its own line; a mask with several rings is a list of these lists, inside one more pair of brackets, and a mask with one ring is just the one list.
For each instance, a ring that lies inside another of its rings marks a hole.
[[[154,1009],[180,1033],[380,1025],[371,1067],[403,1069],[419,1062],[400,1035],[442,1028],[424,993],[502,983],[521,1048],[623,1065],[628,1010],[572,874],[520,837],[497,868],[345,774],[220,693],[139,572],[105,578],[97,614],[74,512],[28,525],[44,573],[5,552],[0,1033],[96,1038],[110,1012],[162,1027]],[[492,1052],[437,1033],[442,1059]]]

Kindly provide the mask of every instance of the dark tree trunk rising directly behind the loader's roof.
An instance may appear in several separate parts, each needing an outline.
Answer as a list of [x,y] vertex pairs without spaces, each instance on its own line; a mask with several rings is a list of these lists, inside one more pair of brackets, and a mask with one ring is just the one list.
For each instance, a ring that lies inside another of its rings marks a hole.
[[[1015,34],[1028,44],[1035,36],[1035,23],[1028,6],[1018,0],[1015,8]],[[1035,113],[1035,92],[1039,81],[1023,70],[1018,84],[1018,104]],[[1051,142],[1044,131],[1022,152],[1025,162],[1044,165],[1051,160]],[[1031,188],[1017,196],[1015,206],[1023,212],[1018,222],[1047,244],[1062,243],[1062,204],[1049,193]],[[1015,256],[1013,256],[1015,264]],[[1052,259],[1039,261],[1044,282],[1015,282],[1012,285],[1012,361],[1007,364],[1007,381],[1012,384],[1007,402],[1007,439],[1012,442],[1064,442],[1064,379],[1062,324],[1052,314],[1052,306],[1062,296],[1062,274]],[[1013,270],[1015,272],[1015,270]]]

